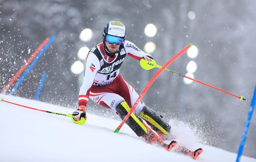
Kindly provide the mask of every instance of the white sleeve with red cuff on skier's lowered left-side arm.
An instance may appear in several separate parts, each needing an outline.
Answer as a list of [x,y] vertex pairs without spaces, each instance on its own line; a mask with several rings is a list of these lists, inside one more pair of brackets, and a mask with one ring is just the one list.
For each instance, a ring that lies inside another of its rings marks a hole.
[[89,89],[91,88],[94,82],[94,78],[98,70],[100,70],[100,61],[94,53],[89,52],[85,64],[83,84],[79,91],[79,106],[87,105],[87,102],[89,100]]

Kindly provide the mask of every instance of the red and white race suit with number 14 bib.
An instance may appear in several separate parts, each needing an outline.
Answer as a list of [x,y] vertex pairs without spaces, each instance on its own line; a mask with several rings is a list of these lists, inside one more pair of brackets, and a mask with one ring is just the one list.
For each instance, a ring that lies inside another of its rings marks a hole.
[[[139,95],[122,78],[119,70],[127,54],[137,60],[149,54],[140,50],[134,43],[125,41],[123,46],[121,44],[119,47],[119,52],[114,57],[109,57],[103,46],[101,42],[88,53],[78,103],[86,106],[90,98],[99,105],[116,110],[116,106],[125,100],[131,107]],[[134,110],[135,114],[140,114],[144,105],[141,101]]]

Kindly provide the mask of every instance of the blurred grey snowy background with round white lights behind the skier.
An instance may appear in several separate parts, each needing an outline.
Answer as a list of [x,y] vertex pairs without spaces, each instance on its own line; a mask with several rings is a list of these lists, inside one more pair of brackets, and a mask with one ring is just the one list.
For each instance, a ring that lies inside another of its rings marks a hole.
[[[189,123],[202,143],[237,152],[256,84],[255,6],[252,0],[0,0],[0,90],[41,42],[55,35],[13,95],[34,99],[46,73],[39,100],[76,109],[88,50],[102,41],[108,21],[121,21],[126,39],[159,65],[193,43],[168,68],[244,96],[246,101],[239,101],[163,71],[143,98],[167,120]],[[122,65],[122,76],[138,94],[158,70],[146,71],[129,56]],[[91,100],[87,107],[117,118]],[[245,156],[256,158],[255,134],[253,114]]]

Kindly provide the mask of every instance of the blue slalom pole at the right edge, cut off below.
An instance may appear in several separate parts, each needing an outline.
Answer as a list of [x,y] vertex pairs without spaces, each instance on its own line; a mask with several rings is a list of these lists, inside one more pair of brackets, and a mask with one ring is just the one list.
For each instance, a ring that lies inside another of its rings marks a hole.
[[252,96],[252,100],[251,100],[251,104],[250,104],[250,110],[248,112],[248,118],[247,118],[246,123],[245,123],[245,128],[244,128],[243,136],[242,136],[242,139],[241,139],[241,142],[240,142],[239,150],[238,150],[238,153],[237,153],[236,162],[240,162],[240,157],[242,156],[242,153],[243,153],[247,132],[248,132],[248,129],[249,129],[249,126],[250,126],[250,119],[251,119],[251,116],[252,116],[252,113],[253,113],[253,110],[254,110],[254,107],[255,107],[255,102],[256,102],[256,87],[254,89],[254,93],[253,93],[253,96]]

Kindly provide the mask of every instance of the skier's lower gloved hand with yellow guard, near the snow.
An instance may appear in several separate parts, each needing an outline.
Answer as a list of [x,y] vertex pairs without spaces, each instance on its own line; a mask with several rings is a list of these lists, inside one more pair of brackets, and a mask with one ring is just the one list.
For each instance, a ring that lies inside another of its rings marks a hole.
[[73,122],[76,124],[83,125],[85,123],[85,120],[87,118],[86,116],[86,107],[81,105],[78,107],[78,110],[74,111],[72,113]]

